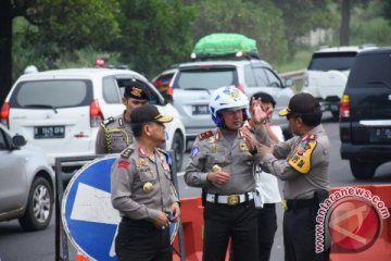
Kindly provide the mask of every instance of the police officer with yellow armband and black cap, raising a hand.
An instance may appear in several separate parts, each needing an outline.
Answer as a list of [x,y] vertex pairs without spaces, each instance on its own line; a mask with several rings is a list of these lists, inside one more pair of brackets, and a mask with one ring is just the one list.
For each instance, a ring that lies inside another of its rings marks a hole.
[[[262,134],[264,112],[257,101],[251,112],[256,119],[257,138],[269,144],[267,135]],[[328,251],[315,252],[316,213],[330,189],[330,142],[320,124],[319,102],[310,94],[298,94],[290,99],[287,109],[279,111],[279,115],[287,117],[297,136],[272,147],[258,145],[257,150],[263,166],[285,181],[285,260],[328,260]]]

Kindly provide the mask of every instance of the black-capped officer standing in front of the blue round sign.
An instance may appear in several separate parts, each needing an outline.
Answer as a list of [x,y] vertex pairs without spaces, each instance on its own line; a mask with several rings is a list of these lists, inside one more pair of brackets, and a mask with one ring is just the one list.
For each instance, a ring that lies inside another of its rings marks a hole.
[[168,222],[180,214],[169,171],[169,154],[157,148],[164,141],[163,116],[151,104],[130,113],[136,140],[126,148],[111,173],[112,204],[122,215],[115,252],[123,260],[172,260]]

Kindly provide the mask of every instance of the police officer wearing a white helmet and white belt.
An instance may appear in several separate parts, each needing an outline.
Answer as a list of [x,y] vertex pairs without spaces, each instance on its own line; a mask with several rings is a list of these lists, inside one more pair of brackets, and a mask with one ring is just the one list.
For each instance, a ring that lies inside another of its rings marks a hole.
[[202,187],[204,197],[203,260],[225,260],[231,238],[235,261],[257,260],[257,212],[253,200],[253,167],[257,159],[242,134],[249,100],[235,86],[211,97],[216,128],[195,138],[185,182]]

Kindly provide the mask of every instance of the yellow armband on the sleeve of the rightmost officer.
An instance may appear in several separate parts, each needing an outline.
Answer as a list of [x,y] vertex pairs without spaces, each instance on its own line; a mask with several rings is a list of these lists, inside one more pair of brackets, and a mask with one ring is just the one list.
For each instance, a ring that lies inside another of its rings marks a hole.
[[288,158],[288,164],[301,174],[307,174],[311,170],[311,156],[316,145],[317,141],[314,138],[302,139],[294,153]]

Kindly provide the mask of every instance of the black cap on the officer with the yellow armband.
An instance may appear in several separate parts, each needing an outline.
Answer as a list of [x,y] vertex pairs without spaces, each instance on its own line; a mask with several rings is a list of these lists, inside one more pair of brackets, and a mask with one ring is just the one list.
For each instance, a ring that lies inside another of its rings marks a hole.
[[289,115],[310,115],[320,112],[319,101],[316,100],[312,95],[301,92],[294,95],[288,104],[288,108],[282,109],[278,112],[280,116]]

